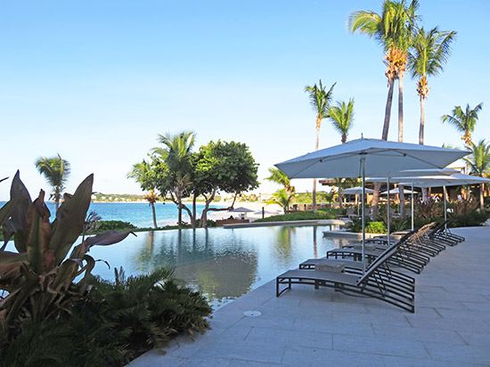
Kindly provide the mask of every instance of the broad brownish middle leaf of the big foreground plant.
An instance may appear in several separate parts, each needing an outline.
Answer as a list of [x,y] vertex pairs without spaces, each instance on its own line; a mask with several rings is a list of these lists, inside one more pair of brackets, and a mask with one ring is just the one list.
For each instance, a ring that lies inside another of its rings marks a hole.
[[41,190],[39,197],[29,208],[25,228],[25,232],[28,233],[26,247],[29,264],[37,274],[49,271],[53,267],[53,252],[47,252],[51,240],[49,216],[49,210],[45,205],[45,192]]

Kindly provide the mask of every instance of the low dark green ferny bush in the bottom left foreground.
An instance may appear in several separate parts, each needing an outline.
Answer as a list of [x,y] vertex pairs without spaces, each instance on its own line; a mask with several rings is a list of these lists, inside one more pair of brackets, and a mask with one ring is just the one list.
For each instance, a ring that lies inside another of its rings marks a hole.
[[123,366],[176,334],[208,329],[206,298],[169,269],[115,281],[93,278],[86,297],[64,320],[23,322],[0,355],[0,366]]

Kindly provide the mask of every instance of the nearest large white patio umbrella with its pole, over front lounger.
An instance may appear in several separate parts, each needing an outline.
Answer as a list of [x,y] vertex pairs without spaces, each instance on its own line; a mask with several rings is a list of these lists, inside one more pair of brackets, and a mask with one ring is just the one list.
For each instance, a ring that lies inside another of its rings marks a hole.
[[467,154],[469,151],[361,138],[307,153],[275,166],[290,178],[363,178],[363,266],[365,266],[365,175],[386,177],[396,175],[405,169],[442,169]]

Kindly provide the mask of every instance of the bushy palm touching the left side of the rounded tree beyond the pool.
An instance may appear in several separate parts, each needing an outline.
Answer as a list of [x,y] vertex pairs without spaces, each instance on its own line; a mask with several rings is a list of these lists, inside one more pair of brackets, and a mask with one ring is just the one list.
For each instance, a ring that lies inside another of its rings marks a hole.
[[[159,135],[159,143],[164,145],[163,148],[154,148],[153,156],[157,165],[164,164],[166,167],[160,167],[161,173],[166,173],[165,186],[159,189],[162,195],[164,192],[170,194],[171,200],[174,201],[178,208],[178,225],[182,224],[182,199],[187,196],[188,186],[191,184],[191,153],[194,146],[194,133],[183,131],[182,133],[171,135]],[[158,162],[160,160],[161,162]]]

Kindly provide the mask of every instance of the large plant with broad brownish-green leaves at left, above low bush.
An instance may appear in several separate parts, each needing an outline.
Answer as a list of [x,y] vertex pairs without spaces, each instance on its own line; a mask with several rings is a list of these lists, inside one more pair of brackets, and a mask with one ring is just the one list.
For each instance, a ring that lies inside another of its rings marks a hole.
[[[63,319],[69,307],[87,290],[87,279],[95,261],[87,251],[95,245],[124,240],[130,232],[105,232],[82,238],[90,205],[94,175],[89,175],[73,195],[65,194],[53,223],[45,205],[45,192],[31,201],[29,192],[13,177],[11,200],[0,208],[4,247],[0,250],[0,349],[22,322]],[[12,238],[17,252],[5,251]],[[68,258],[69,250],[71,254]],[[75,282],[76,278],[79,280]]]

